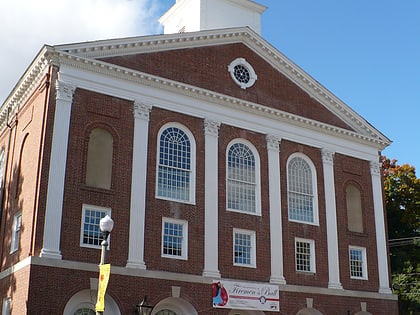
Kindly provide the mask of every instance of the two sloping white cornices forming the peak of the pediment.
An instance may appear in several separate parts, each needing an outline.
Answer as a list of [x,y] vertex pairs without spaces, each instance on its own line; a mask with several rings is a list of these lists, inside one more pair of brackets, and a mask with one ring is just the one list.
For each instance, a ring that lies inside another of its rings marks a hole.
[[56,46],[57,50],[89,58],[167,51],[230,43],[243,43],[260,55],[275,69],[283,73],[300,88],[340,119],[366,136],[390,144],[390,140],[371,126],[358,113],[342,102],[308,73],[288,59],[261,36],[247,27],[209,30],[201,32],[142,36]]

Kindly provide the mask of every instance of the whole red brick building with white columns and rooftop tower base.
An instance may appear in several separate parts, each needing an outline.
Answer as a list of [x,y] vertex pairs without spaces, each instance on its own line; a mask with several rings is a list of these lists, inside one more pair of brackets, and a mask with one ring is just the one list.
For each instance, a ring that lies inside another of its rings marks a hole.
[[[2,314],[397,314],[390,141],[260,35],[177,0],[162,35],[44,46],[0,110]],[[378,153],[379,152],[379,153]]]

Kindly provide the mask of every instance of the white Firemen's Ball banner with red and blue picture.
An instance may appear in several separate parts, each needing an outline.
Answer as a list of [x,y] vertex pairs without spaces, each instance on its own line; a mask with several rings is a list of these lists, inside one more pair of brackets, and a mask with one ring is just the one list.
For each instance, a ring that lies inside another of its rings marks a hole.
[[279,287],[266,283],[214,280],[213,307],[273,311],[280,310]]

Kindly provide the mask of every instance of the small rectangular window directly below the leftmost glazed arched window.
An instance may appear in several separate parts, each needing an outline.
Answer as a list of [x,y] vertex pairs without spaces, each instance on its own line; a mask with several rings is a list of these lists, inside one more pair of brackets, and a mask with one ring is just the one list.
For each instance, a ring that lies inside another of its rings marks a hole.
[[187,221],[163,218],[162,257],[187,259],[187,236]]

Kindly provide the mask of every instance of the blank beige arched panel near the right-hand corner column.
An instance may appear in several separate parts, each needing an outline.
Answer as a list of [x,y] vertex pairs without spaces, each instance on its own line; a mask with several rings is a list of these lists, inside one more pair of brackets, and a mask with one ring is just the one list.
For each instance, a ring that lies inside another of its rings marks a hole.
[[362,198],[355,185],[349,184],[346,187],[346,205],[349,231],[363,233]]

